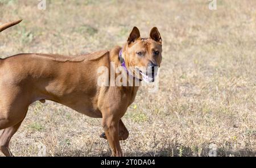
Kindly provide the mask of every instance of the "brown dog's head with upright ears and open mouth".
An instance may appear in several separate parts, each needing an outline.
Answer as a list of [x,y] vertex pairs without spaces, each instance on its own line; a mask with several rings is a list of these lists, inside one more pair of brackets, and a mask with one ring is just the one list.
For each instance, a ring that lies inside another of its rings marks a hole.
[[154,82],[162,61],[162,38],[158,28],[150,31],[150,37],[142,38],[137,27],[133,28],[123,48],[126,65],[133,67],[135,77]]

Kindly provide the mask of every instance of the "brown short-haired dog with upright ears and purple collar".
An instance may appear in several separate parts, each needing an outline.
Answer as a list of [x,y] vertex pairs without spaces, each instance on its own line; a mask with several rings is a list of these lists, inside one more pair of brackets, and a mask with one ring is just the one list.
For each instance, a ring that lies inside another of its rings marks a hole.
[[[18,24],[11,22],[0,27],[0,32]],[[81,56],[57,54],[17,54],[0,58],[0,149],[5,156],[13,156],[9,142],[27,114],[28,106],[36,100],[44,103],[52,100],[64,104],[90,117],[102,117],[102,127],[112,148],[113,156],[122,156],[119,140],[129,136],[121,117],[133,103],[138,86],[99,86],[97,69],[113,65],[136,67],[137,73],[125,73],[125,77],[141,81],[154,81],[146,71],[154,70],[162,61],[162,39],[156,27],[149,38],[141,38],[137,27],[133,28],[127,43],[110,51],[100,51]],[[113,62],[111,64],[110,62]],[[139,72],[139,73],[138,73]],[[115,77],[120,73],[115,72]],[[123,75],[123,74],[122,74]],[[110,74],[106,73],[106,79]]]

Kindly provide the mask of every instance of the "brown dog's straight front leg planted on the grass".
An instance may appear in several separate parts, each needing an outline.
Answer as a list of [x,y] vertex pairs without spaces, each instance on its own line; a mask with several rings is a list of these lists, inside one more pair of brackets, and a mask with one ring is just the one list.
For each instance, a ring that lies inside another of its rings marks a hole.
[[122,156],[122,150],[119,143],[119,118],[113,116],[104,116],[102,118],[102,126],[108,138],[109,145],[112,148],[113,156]]

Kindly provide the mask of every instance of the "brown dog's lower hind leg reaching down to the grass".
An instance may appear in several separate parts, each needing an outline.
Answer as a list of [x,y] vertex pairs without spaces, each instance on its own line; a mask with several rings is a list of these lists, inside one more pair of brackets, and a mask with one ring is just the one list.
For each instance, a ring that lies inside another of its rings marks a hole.
[[11,137],[13,137],[14,133],[18,130],[21,123],[22,121],[12,127],[3,129],[2,133],[0,134],[0,150],[7,157],[13,156],[9,149],[9,142]]

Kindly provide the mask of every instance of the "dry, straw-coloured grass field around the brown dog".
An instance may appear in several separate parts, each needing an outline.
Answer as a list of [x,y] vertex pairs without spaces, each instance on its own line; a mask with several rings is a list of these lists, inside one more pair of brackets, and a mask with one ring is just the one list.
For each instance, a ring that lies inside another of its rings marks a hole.
[[[0,1],[1,57],[80,54],[122,45],[133,26],[163,39],[159,91],[141,88],[123,117],[125,156],[256,156],[256,1]],[[26,62],[24,62],[26,66]],[[3,99],[3,98],[2,98]],[[11,141],[16,156],[109,156],[100,119],[60,104],[32,104]]]

